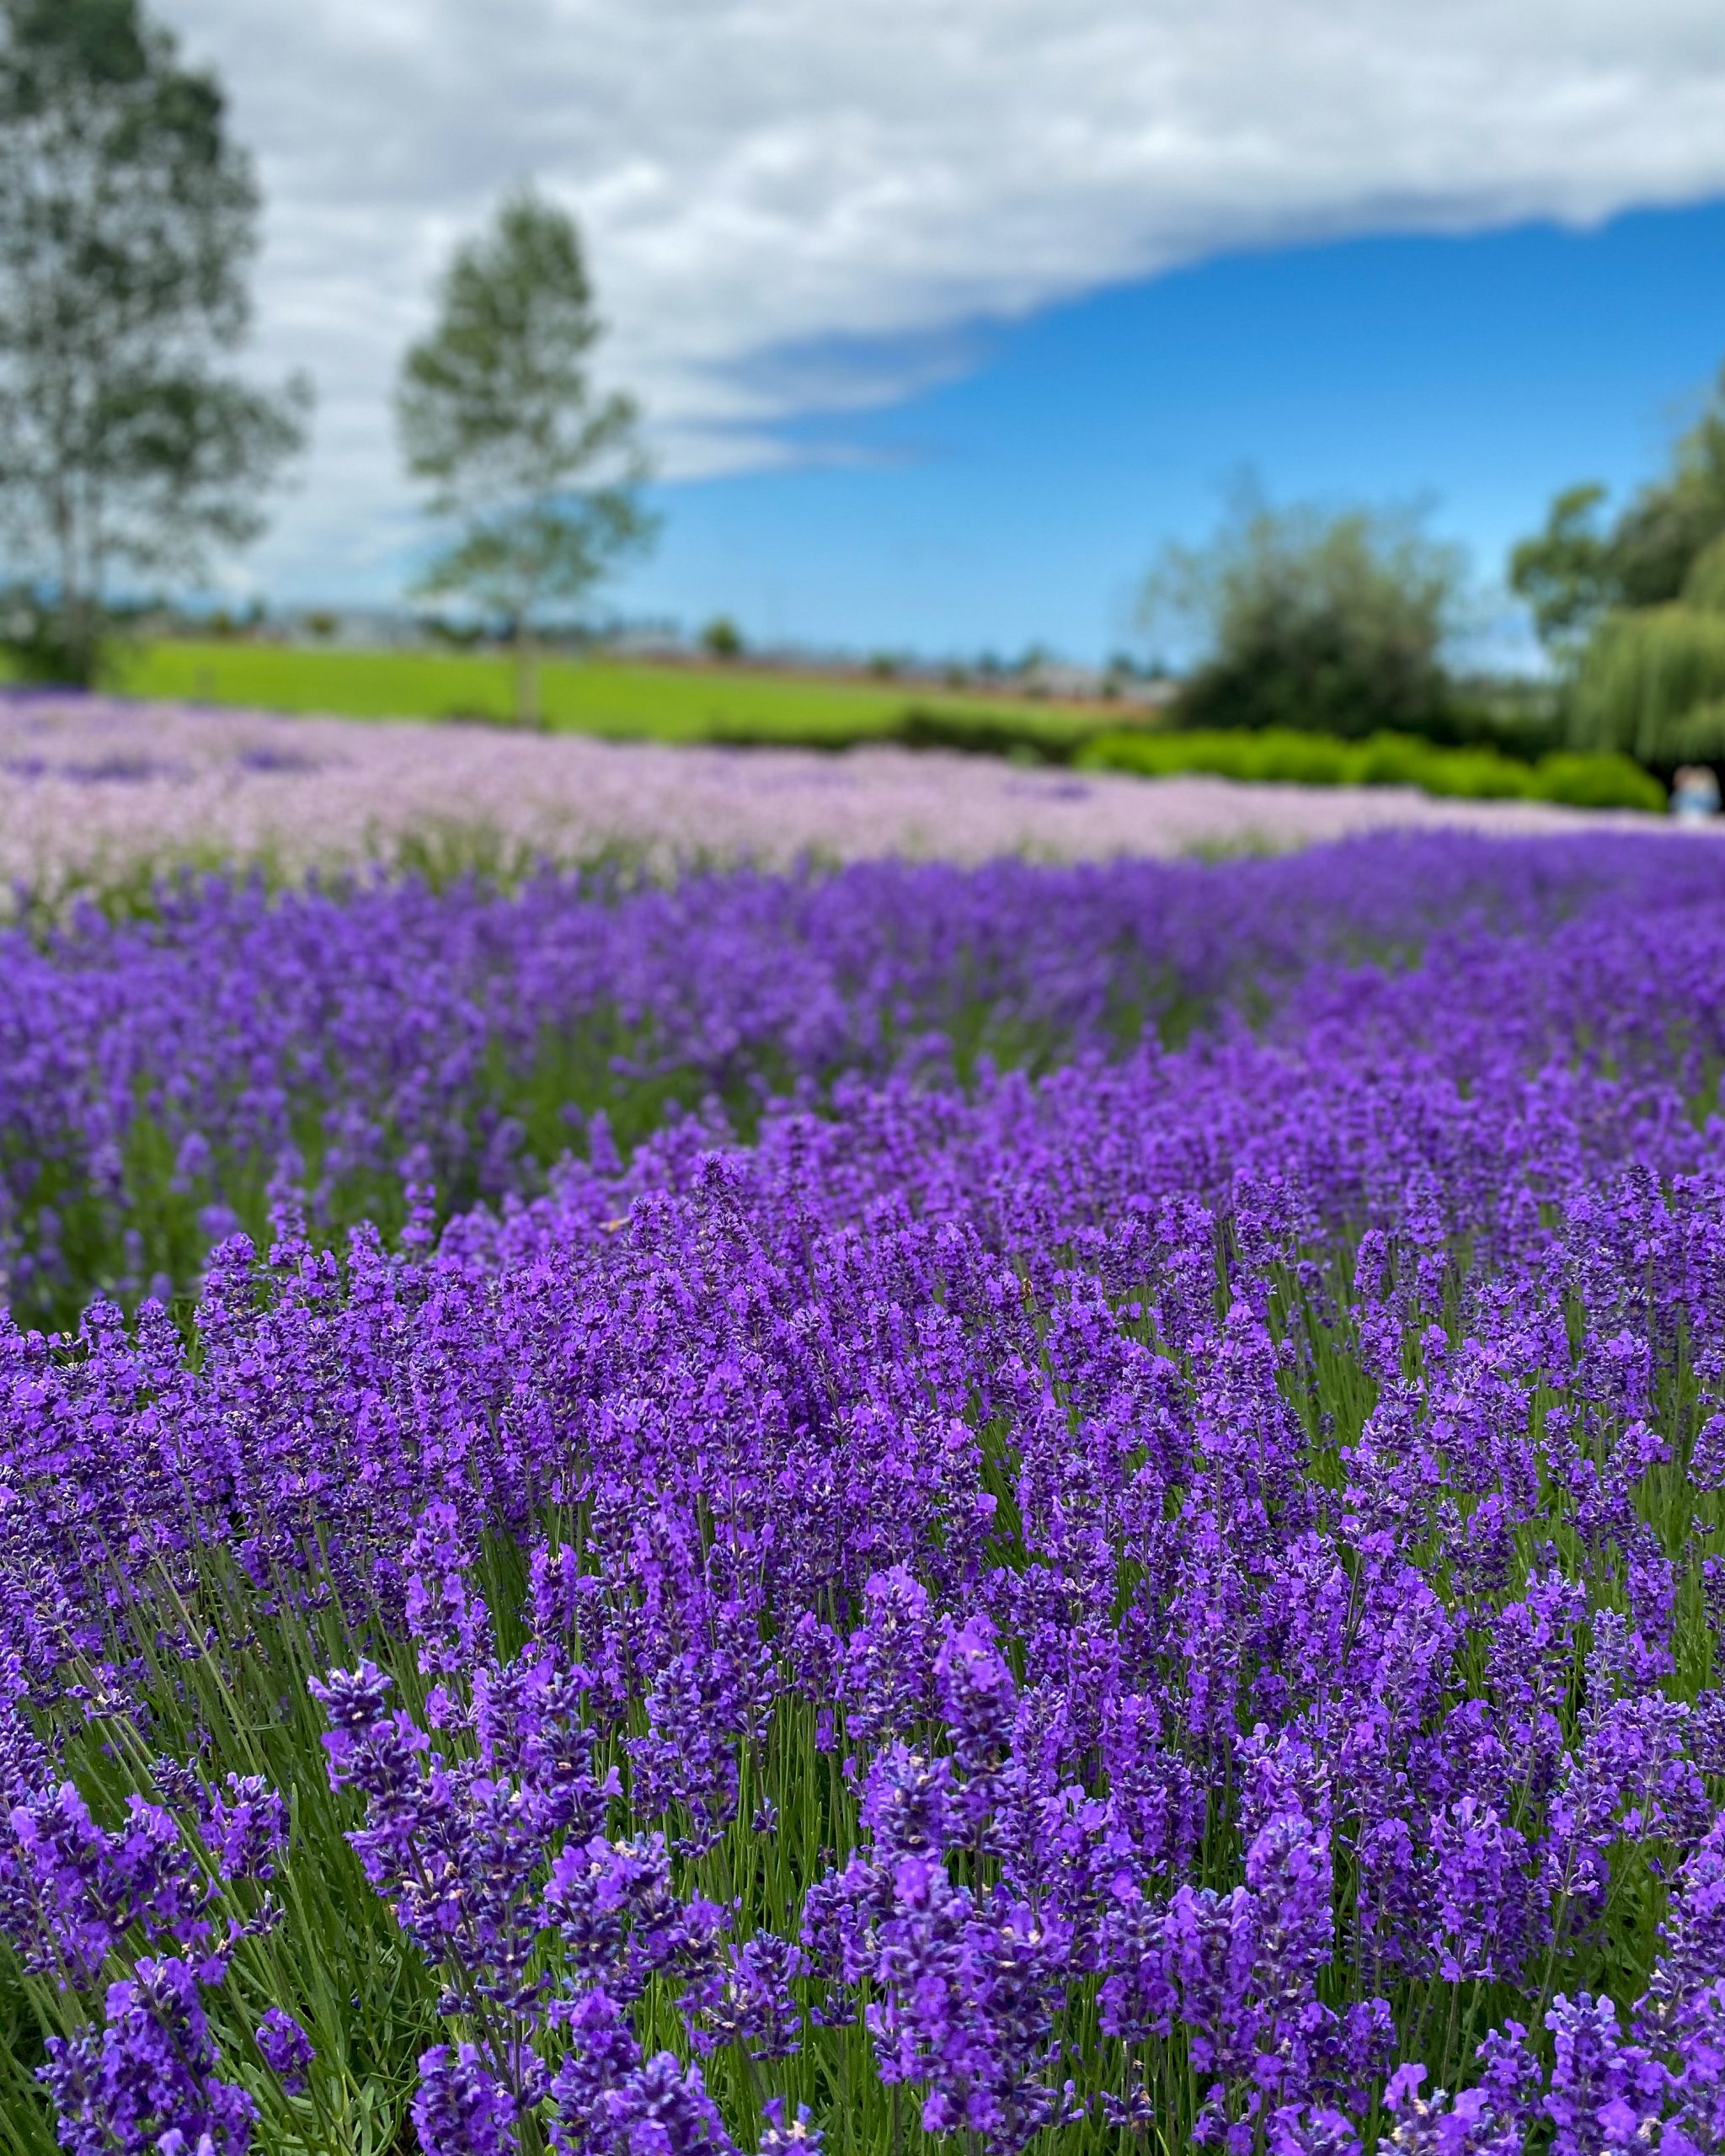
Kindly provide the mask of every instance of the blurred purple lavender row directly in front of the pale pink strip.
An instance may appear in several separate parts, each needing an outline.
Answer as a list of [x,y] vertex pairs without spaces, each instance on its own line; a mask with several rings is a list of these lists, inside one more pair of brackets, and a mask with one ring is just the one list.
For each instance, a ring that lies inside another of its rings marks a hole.
[[261,1235],[272,1184],[313,1225],[395,1231],[403,1177],[446,1210],[543,1188],[675,1097],[746,1128],[768,1093],[888,1069],[968,1080],[988,1054],[1117,1054],[1218,1003],[1274,1003],[1322,957],[1406,953],[1486,914],[1537,931],[1719,888],[1706,852],[1378,841],[1276,862],[824,877],[617,875],[502,893],[185,882],[0,934],[0,1270],[71,1324],[196,1289]]

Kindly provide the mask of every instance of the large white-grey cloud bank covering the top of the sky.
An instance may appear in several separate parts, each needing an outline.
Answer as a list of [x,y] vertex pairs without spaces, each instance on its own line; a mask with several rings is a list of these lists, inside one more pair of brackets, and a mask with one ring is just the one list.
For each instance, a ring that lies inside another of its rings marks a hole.
[[263,556],[300,589],[399,554],[395,362],[526,177],[582,220],[673,476],[1218,248],[1725,190],[1719,0],[155,4],[259,153],[261,360],[319,384]]

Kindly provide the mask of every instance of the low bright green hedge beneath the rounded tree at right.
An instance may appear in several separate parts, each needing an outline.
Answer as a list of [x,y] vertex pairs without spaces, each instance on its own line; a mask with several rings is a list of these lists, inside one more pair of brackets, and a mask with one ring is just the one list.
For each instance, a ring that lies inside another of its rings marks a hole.
[[1283,780],[1300,787],[1419,787],[1462,800],[1568,802],[1574,808],[1665,808],[1665,787],[1619,755],[1552,752],[1518,763],[1494,748],[1434,748],[1408,733],[1339,742],[1322,733],[1100,733],[1078,752],[1082,770],[1175,778]]

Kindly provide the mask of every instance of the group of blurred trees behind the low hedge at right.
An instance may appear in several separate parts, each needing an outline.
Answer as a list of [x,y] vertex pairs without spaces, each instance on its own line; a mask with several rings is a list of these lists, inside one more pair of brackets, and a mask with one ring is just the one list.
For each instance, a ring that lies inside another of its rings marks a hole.
[[1195,651],[1173,718],[1518,755],[1617,750],[1662,776],[1725,763],[1725,373],[1667,470],[1615,517],[1565,487],[1509,556],[1546,683],[1458,673],[1468,567],[1414,511],[1272,507],[1242,489],[1203,545],[1167,545],[1141,623]]

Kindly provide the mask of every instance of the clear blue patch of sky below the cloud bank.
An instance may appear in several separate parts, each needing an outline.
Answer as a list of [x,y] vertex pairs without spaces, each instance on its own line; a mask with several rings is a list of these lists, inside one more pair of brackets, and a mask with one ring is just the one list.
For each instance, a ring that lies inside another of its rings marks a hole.
[[1272,498],[1427,500],[1501,586],[1557,487],[1632,487],[1725,360],[1725,203],[1225,254],[925,358],[962,371],[783,427],[806,464],[660,487],[660,550],[619,604],[1093,658],[1130,640],[1156,545],[1201,537],[1246,468]]

